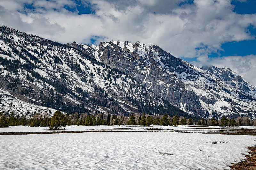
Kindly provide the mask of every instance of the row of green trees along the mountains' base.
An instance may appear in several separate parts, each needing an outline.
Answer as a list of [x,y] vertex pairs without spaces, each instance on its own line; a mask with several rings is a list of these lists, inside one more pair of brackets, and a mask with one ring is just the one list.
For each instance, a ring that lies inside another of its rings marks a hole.
[[10,115],[5,115],[0,113],[0,127],[9,126],[48,126],[51,129],[58,129],[61,126],[66,125],[161,125],[161,126],[178,126],[178,125],[220,125],[220,126],[255,126],[256,120],[250,120],[246,117],[232,118],[229,119],[223,116],[220,120],[212,119],[200,119],[198,121],[193,120],[191,117],[187,119],[183,116],[174,115],[170,117],[169,115],[134,115],[131,114],[130,117],[124,115],[108,115],[102,114],[96,111],[96,115],[77,115],[75,118],[71,116],[62,114],[60,111],[56,111],[52,117],[36,117],[36,118],[26,118],[23,114],[15,115],[13,112]]

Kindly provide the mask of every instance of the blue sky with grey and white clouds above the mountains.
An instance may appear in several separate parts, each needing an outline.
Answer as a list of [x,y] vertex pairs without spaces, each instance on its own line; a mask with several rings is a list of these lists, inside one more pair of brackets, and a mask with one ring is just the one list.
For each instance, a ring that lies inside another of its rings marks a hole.
[[0,0],[0,24],[61,43],[140,41],[256,85],[255,0]]

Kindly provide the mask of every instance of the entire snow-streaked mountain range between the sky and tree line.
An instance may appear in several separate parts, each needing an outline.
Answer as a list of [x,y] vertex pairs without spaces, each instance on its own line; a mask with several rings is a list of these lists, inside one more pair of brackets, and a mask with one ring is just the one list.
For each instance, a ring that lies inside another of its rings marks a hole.
[[0,80],[0,112],[28,117],[61,110],[256,118],[256,87],[234,71],[197,68],[140,42],[60,44],[0,26]]

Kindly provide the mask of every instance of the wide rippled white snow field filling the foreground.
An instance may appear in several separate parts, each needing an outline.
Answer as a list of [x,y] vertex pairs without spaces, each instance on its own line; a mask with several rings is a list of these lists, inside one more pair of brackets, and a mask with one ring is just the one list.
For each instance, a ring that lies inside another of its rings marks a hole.
[[0,143],[0,169],[184,170],[230,169],[256,141],[254,136],[96,132],[3,135]]

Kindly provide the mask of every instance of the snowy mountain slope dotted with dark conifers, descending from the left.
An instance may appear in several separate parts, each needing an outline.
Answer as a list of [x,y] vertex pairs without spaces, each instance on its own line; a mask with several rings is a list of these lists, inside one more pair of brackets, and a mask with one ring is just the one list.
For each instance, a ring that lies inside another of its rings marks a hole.
[[0,26],[0,112],[187,115],[94,56]]

